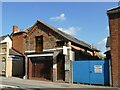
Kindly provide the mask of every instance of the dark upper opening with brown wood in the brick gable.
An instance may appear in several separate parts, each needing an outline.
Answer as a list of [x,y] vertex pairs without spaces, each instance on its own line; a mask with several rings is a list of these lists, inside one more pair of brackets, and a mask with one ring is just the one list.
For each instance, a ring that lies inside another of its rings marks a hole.
[[36,52],[41,52],[43,50],[43,36],[36,36]]

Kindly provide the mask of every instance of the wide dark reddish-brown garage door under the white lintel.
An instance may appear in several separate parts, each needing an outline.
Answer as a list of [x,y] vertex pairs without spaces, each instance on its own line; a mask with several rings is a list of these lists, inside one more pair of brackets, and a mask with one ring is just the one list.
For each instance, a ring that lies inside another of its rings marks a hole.
[[32,59],[32,77],[40,78],[43,80],[52,80],[52,58],[51,57],[42,57],[42,58],[33,58]]

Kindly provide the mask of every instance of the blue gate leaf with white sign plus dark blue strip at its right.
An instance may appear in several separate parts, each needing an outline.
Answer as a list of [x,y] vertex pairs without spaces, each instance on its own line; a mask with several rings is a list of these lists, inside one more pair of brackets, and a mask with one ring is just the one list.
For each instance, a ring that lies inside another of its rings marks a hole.
[[109,85],[109,61],[90,61],[90,84]]

